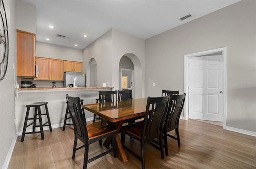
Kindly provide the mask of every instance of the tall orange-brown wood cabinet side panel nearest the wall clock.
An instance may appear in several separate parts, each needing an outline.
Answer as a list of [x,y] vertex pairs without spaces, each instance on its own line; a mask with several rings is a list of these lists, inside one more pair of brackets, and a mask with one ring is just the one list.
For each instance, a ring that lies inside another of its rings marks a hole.
[[35,35],[17,30],[17,76],[34,77]]

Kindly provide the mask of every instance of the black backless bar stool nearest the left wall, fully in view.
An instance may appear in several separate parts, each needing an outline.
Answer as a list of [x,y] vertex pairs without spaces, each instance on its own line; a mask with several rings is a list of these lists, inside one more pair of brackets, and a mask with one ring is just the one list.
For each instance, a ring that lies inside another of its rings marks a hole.
[[[51,125],[51,121],[50,121],[50,116],[49,116],[47,104],[48,104],[48,102],[37,102],[37,103],[31,104],[31,105],[26,105],[27,112],[26,112],[26,117],[25,117],[25,121],[24,121],[21,142],[24,141],[25,134],[31,134],[31,133],[41,133],[41,139],[43,140],[44,139],[43,126],[49,126],[50,131],[52,131],[52,125]],[[43,106],[43,105],[45,106],[46,113],[42,114],[41,113],[41,106]],[[28,118],[30,107],[35,107],[34,118]],[[44,124],[42,123],[42,115],[47,116],[47,121]],[[36,125],[36,120],[37,119],[39,119],[39,125]],[[33,120],[33,122],[27,125],[28,120]],[[26,132],[26,128],[28,126],[32,125],[32,124],[33,124],[33,131],[32,132]],[[40,131],[35,131],[36,127],[40,127]]]

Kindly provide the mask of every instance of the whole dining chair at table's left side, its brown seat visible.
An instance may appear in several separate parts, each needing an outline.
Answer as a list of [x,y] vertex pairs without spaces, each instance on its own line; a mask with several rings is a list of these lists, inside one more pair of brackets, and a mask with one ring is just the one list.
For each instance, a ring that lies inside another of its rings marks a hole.
[[[82,113],[82,108],[80,105],[79,97],[71,97],[66,95],[66,99],[68,102],[68,109],[74,124],[74,147],[73,147],[73,155],[72,158],[75,158],[76,150],[84,147],[84,164],[83,169],[87,168],[87,164],[110,153],[114,152],[114,158],[116,158],[116,129],[106,125],[105,123],[101,123],[98,121],[96,123],[92,123],[86,125],[85,118]],[[111,137],[112,139],[112,148],[104,151],[103,153],[88,159],[89,153],[89,145],[101,139]],[[77,146],[77,140],[82,141],[83,145],[80,147]]]

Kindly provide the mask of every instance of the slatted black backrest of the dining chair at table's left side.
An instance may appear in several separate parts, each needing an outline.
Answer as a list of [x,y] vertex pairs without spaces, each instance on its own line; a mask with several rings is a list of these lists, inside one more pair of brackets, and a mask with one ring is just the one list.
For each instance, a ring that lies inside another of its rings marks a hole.
[[84,144],[86,143],[88,144],[88,133],[86,129],[86,121],[82,113],[80,98],[66,95],[66,99],[68,103],[70,116],[74,124],[75,134],[78,137],[78,139],[80,139],[80,141],[82,141]]

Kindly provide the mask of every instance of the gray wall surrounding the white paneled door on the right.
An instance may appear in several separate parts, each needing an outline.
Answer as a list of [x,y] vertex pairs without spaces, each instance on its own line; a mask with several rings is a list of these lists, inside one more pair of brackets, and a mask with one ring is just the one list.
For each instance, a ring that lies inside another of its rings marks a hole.
[[226,124],[256,132],[256,1],[237,2],[147,39],[145,95],[160,95],[162,89],[182,93],[184,55],[222,47],[227,47]]

